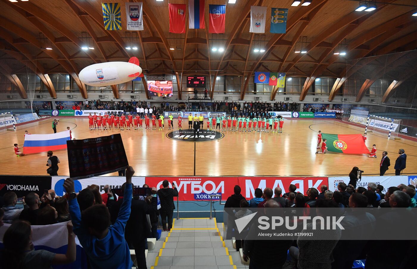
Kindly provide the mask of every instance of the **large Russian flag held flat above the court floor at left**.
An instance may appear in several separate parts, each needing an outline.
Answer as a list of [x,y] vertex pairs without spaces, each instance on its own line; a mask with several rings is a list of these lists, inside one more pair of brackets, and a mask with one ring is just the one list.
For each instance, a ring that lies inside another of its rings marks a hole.
[[23,153],[29,154],[66,149],[67,140],[70,140],[70,131],[56,134],[26,134]]

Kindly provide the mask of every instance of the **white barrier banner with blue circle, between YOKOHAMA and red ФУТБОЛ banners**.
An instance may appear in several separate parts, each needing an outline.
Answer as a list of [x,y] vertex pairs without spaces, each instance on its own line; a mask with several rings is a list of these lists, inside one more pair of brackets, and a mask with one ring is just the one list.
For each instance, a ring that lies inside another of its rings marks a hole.
[[[63,187],[64,181],[69,176],[55,176],[52,177],[51,186],[55,190],[56,195],[62,196],[65,194]],[[109,185],[111,189],[121,188],[121,185],[126,182],[126,177],[118,176],[103,176],[74,180],[74,189],[78,193],[80,190],[87,188],[90,185],[100,186],[100,193],[104,193],[104,186]],[[142,187],[145,184],[145,177],[132,177],[133,187]]]

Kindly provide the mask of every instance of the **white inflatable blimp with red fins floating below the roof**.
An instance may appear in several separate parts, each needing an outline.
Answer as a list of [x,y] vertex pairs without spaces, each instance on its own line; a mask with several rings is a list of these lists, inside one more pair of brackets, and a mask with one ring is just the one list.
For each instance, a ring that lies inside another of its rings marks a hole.
[[78,75],[80,81],[90,86],[121,84],[143,76],[139,59],[132,57],[129,62],[95,63],[85,67]]

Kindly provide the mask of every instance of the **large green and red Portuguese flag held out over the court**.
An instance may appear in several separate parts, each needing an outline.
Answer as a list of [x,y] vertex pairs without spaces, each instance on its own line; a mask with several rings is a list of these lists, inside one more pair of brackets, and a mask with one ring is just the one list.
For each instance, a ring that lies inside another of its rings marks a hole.
[[322,134],[327,150],[349,154],[369,154],[362,134]]

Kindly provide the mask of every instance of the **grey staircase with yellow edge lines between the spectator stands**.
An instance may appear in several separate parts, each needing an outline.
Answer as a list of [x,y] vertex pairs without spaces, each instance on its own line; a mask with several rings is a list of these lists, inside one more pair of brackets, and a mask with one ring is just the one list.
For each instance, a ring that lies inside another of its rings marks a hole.
[[171,231],[162,232],[148,251],[148,269],[249,268],[233,249],[232,240],[223,239],[223,231],[223,223],[216,218],[174,219]]

